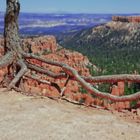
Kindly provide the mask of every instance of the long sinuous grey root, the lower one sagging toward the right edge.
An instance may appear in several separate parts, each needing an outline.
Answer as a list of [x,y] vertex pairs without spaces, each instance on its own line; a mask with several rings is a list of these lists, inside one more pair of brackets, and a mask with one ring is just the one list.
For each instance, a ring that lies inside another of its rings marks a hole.
[[[112,101],[115,101],[115,102],[133,101],[133,100],[140,99],[140,92],[137,92],[137,93],[132,94],[132,95],[124,95],[124,96],[119,96],[119,97],[118,96],[111,95],[110,93],[101,92],[101,91],[95,89],[91,84],[87,83],[78,74],[78,72],[75,69],[73,69],[72,67],[68,66],[67,64],[63,64],[63,63],[56,62],[56,61],[51,61],[51,60],[45,60],[45,59],[40,58],[38,56],[35,56],[33,54],[26,54],[24,56],[25,57],[28,57],[28,58],[34,58],[34,59],[40,60],[40,61],[45,62],[45,63],[50,64],[50,65],[55,65],[55,66],[61,67],[66,74],[68,74],[71,77],[73,77],[89,93],[94,94],[97,97],[106,98],[106,99],[109,99],[109,100],[112,100]],[[131,77],[133,77],[133,76],[131,76]],[[104,78],[104,77],[102,77],[102,78]],[[112,79],[113,79],[113,77],[112,77]],[[125,75],[122,79],[128,79],[128,75]],[[100,81],[101,81],[101,78],[100,78]]]

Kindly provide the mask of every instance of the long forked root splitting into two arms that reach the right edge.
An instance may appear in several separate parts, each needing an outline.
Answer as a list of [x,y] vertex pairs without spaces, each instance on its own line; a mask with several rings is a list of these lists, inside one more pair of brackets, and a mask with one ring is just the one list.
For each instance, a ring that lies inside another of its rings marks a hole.
[[[95,89],[90,83],[88,83],[89,81],[90,82],[95,81],[96,83],[97,82],[105,82],[105,81],[111,82],[111,80],[112,80],[112,82],[114,82],[114,81],[127,81],[127,80],[133,81],[132,79],[134,79],[134,81],[138,81],[139,77],[140,77],[139,75],[100,76],[100,77],[95,77],[95,80],[94,80],[94,77],[82,78],[75,69],[68,66],[67,64],[64,64],[61,62],[56,62],[56,61],[51,61],[51,60],[45,60],[45,59],[40,58],[38,56],[35,56],[33,54],[25,54],[24,56],[26,58],[37,59],[41,62],[61,67],[67,75],[72,77],[72,79],[75,79],[76,81],[78,81],[79,84],[81,86],[83,86],[89,93],[96,95],[97,97],[109,99],[109,100],[114,101],[114,102],[133,101],[133,100],[140,99],[140,92],[137,92],[137,93],[132,94],[132,95],[115,96],[115,95],[111,95],[110,93],[101,92],[101,91]],[[37,71],[37,69],[36,69],[36,71]],[[109,78],[109,80],[107,80],[108,78]],[[115,79],[115,80],[113,80],[113,79]]]

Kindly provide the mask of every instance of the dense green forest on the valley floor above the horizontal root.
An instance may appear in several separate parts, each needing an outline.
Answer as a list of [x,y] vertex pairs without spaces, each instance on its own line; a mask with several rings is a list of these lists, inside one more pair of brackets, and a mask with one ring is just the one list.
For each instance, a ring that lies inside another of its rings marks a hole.
[[140,73],[140,47],[94,47],[91,45],[70,47],[88,56],[90,62],[99,68],[91,69],[93,75]]

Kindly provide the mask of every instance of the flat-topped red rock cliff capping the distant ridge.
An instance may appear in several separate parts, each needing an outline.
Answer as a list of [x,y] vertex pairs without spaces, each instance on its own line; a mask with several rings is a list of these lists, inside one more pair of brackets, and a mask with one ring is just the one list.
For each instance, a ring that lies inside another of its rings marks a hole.
[[112,21],[140,23],[140,16],[113,16]]

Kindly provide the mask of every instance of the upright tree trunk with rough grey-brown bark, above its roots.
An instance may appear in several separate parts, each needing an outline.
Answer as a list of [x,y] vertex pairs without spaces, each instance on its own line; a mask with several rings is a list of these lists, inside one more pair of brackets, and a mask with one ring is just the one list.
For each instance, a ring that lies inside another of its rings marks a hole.
[[7,0],[7,9],[5,14],[4,27],[4,49],[5,53],[12,52],[15,59],[20,56],[21,45],[19,38],[18,16],[20,3],[18,0]]

